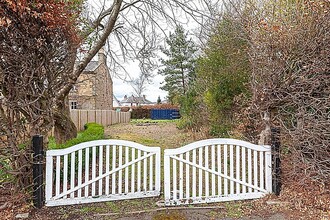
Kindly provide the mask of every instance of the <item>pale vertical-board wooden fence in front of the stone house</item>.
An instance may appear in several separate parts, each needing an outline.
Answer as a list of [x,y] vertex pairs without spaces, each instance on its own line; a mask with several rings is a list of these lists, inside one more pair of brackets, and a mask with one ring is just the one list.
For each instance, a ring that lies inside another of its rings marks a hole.
[[71,119],[81,131],[88,122],[96,122],[103,126],[128,123],[131,120],[131,113],[113,110],[71,110]]

